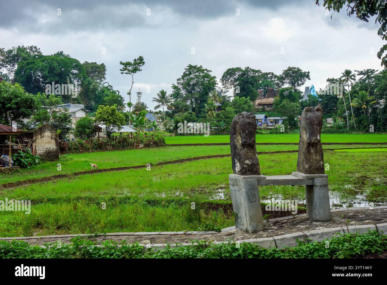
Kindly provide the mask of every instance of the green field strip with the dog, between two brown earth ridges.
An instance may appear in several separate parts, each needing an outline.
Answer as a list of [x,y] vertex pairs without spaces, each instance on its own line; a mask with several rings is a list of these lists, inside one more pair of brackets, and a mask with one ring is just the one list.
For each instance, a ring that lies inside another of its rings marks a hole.
[[[191,138],[195,138],[191,136]],[[324,149],[342,149],[348,147],[382,147],[386,145],[323,145]],[[257,145],[257,152],[274,152],[281,150],[298,150],[298,145]],[[83,154],[69,154],[70,161],[43,162],[31,169],[20,169],[18,172],[0,174],[0,185],[27,179],[38,179],[58,174],[71,174],[89,171],[90,163],[96,163],[99,169],[143,165],[148,163],[173,161],[192,157],[229,154],[229,145],[207,146],[178,146],[159,147],[153,149],[117,150],[108,152],[88,152]],[[60,171],[58,163],[61,164]]]

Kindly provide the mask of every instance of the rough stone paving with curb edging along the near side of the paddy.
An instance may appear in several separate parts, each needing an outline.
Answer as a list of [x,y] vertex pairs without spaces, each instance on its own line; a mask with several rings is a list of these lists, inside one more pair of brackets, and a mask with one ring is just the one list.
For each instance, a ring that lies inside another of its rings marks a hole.
[[[353,231],[354,226],[362,232],[367,232],[370,226],[361,227],[361,225],[371,225],[371,228],[378,229],[378,231],[384,231],[387,233],[387,207],[382,206],[374,209],[356,209],[348,211],[335,211],[332,210],[332,220],[328,222],[312,222],[306,216],[300,215],[296,218],[291,217],[289,219],[272,219],[264,224],[264,230],[258,233],[246,233],[240,230],[236,230],[235,226],[225,228],[221,232],[215,231],[190,231],[190,232],[152,232],[152,233],[109,233],[106,235],[95,236],[81,235],[87,237],[92,241],[101,243],[105,240],[122,241],[127,240],[128,242],[139,242],[140,244],[175,244],[175,243],[187,243],[191,244],[192,240],[212,240],[217,242],[224,242],[225,240],[232,239],[235,241],[243,240],[254,240],[254,239],[267,239],[274,238],[276,241],[279,240],[278,245],[285,240],[282,238],[276,238],[281,235],[293,234],[292,237],[299,235],[305,235],[308,238],[313,237],[315,240],[322,238],[318,236],[319,230],[342,228],[342,231],[347,232],[346,221],[349,220],[350,232]],[[379,225],[379,226],[373,226]],[[315,231],[315,232],[310,232]],[[333,230],[335,231],[335,230]],[[308,232],[310,237],[308,236]],[[312,233],[315,236],[312,236]],[[296,235],[294,235],[296,234]],[[56,236],[42,236],[42,237],[17,237],[17,238],[0,238],[0,240],[25,240],[32,245],[44,245],[46,243],[52,243],[61,241],[63,244],[70,243],[70,239],[78,235],[56,235]],[[301,240],[301,238],[299,238]],[[295,244],[296,239],[294,238],[290,244]],[[267,240],[262,240],[262,244],[265,245]]]

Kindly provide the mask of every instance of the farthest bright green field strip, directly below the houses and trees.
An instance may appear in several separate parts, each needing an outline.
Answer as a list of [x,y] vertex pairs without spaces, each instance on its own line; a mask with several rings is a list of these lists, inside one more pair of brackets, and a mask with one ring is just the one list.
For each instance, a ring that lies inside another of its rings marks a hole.
[[[298,143],[299,134],[283,135],[257,135],[257,143]],[[387,134],[322,134],[322,142],[359,143],[359,142],[385,142]],[[168,136],[165,138],[167,144],[187,144],[187,143],[229,143],[229,135],[195,135],[195,136]]]

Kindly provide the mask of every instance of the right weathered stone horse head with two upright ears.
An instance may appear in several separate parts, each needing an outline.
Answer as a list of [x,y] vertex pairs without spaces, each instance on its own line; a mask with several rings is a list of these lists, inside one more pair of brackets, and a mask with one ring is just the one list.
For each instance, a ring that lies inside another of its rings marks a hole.
[[297,171],[304,174],[324,174],[324,155],[321,145],[322,109],[306,107],[300,122]]

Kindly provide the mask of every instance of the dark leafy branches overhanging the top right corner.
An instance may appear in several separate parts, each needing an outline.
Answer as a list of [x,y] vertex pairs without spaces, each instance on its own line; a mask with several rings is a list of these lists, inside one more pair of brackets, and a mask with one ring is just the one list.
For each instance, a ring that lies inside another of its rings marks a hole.
[[[316,0],[319,5],[320,0]],[[382,40],[387,40],[387,0],[324,0],[324,7],[326,9],[340,12],[342,7],[347,6],[347,15],[355,14],[361,21],[368,22],[369,17],[375,16],[375,23],[381,24],[378,29],[378,35]],[[333,14],[332,14],[333,16]],[[332,19],[332,16],[330,18]],[[387,44],[383,45],[377,53],[378,59],[381,59],[381,66],[387,67],[387,56],[382,57],[387,50]]]

